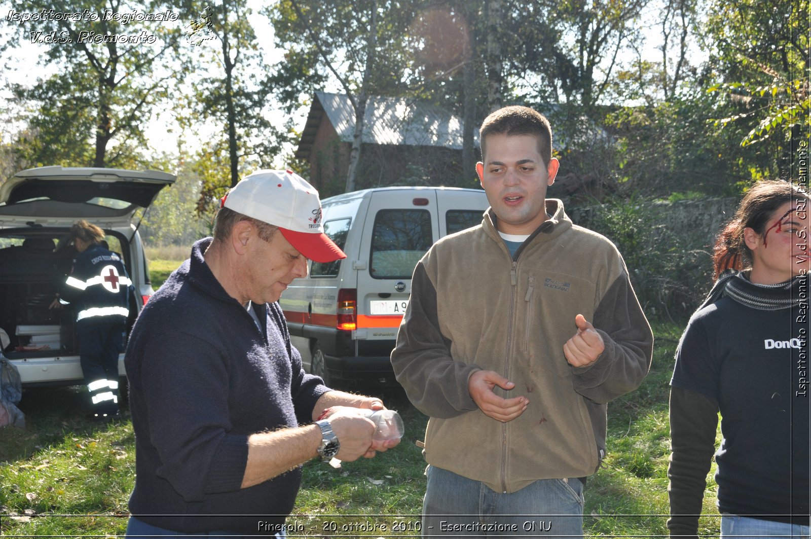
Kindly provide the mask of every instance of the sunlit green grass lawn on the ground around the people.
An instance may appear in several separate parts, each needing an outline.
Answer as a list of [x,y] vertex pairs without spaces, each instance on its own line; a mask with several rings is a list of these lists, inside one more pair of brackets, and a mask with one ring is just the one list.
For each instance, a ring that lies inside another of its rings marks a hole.
[[[178,264],[152,261],[153,287]],[[667,382],[680,328],[659,325],[654,333],[650,375],[609,405],[609,454],[586,485],[589,537],[667,536]],[[0,429],[0,535],[124,533],[135,481],[132,425],[88,423],[86,395],[82,387],[26,391],[19,405],[26,428]],[[401,391],[380,396],[401,412],[405,439],[375,459],[340,469],[315,460],[305,464],[290,537],[419,535],[425,463],[414,441],[423,439],[427,418]],[[702,533],[717,536],[711,481],[704,512]]]

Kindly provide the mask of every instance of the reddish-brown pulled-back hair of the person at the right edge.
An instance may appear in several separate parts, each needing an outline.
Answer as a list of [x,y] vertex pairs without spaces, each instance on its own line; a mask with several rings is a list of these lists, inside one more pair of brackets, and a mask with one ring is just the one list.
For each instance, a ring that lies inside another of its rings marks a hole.
[[723,270],[744,270],[752,265],[752,252],[744,241],[744,228],[752,228],[757,235],[763,235],[766,223],[775,211],[787,202],[798,199],[809,201],[809,194],[800,191],[796,185],[781,180],[764,179],[749,188],[738,205],[735,217],[727,222],[715,238],[715,278]]

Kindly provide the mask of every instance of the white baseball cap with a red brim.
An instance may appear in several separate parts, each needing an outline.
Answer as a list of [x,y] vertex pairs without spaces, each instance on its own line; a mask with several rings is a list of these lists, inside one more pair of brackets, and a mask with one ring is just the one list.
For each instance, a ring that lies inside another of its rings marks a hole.
[[292,170],[257,170],[231,188],[221,205],[278,226],[290,245],[312,261],[346,258],[324,234],[318,191]]

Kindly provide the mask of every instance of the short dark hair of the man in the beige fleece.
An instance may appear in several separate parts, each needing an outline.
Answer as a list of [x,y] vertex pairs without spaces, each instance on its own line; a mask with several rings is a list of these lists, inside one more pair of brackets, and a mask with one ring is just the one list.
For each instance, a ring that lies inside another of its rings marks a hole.
[[505,106],[492,112],[484,119],[478,132],[478,144],[482,149],[484,161],[484,144],[489,135],[532,135],[538,137],[538,151],[543,164],[549,166],[552,158],[552,129],[546,116],[528,106]]

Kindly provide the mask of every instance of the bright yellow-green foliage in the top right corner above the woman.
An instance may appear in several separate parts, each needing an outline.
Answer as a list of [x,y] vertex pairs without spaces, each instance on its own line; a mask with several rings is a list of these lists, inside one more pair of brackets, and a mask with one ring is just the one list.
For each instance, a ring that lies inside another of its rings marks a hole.
[[794,149],[811,133],[809,2],[772,2],[769,16],[756,9],[754,0],[710,3],[707,29],[719,78],[707,92],[734,108],[715,116],[715,126],[743,128],[740,144],[765,146],[773,168],[787,176],[798,159]]

